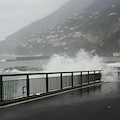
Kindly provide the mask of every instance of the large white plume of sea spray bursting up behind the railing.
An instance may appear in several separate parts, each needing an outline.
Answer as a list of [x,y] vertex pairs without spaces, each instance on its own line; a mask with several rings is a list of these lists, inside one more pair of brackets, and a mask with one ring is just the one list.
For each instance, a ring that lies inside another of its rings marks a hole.
[[67,54],[54,55],[48,64],[44,66],[45,71],[88,71],[101,70],[103,68],[103,58],[93,55],[85,50],[80,50],[75,57]]

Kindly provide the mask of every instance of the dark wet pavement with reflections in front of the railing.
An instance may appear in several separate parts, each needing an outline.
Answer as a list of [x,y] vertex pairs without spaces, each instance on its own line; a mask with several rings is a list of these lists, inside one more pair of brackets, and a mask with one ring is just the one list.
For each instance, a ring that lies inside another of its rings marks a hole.
[[0,109],[0,120],[120,120],[120,82]]

